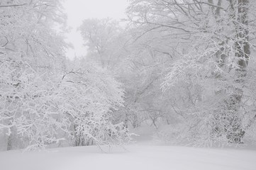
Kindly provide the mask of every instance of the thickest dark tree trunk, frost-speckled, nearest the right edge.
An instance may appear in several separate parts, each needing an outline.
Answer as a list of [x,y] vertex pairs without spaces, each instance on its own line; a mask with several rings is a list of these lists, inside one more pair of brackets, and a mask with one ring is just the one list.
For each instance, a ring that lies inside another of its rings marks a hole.
[[249,0],[238,0],[238,21],[235,26],[236,39],[235,42],[235,57],[238,57],[238,69],[235,71],[235,84],[238,86],[233,87],[233,94],[226,102],[228,112],[233,115],[229,118],[229,123],[226,125],[226,137],[229,142],[240,143],[245,135],[242,122],[240,120],[240,104],[243,98],[243,89],[241,88],[245,83],[247,74],[246,68],[250,57],[249,45],[249,30],[248,26],[248,6]]

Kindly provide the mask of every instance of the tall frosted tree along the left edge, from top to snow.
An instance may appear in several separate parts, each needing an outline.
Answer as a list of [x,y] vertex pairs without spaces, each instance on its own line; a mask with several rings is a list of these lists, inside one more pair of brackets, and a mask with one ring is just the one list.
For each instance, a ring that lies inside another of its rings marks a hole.
[[64,21],[60,1],[1,1],[0,11],[0,127],[9,135],[7,149],[19,139],[20,147],[45,147],[57,141],[60,126],[52,88],[65,42],[51,26]]

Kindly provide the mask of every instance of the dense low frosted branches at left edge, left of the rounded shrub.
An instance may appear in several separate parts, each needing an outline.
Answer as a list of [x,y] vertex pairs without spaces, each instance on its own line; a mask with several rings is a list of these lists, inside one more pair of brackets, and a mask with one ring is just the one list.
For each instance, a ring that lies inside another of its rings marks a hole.
[[57,142],[61,122],[55,84],[22,60],[2,56],[0,70],[0,128],[7,129],[8,135],[16,133],[30,149]]

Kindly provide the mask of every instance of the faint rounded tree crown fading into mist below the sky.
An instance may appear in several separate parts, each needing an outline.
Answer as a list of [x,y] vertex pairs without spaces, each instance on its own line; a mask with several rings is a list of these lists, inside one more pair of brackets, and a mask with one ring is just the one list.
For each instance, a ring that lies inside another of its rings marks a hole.
[[79,31],[88,47],[87,59],[98,62],[102,68],[113,69],[124,55],[123,28],[110,18],[86,19]]

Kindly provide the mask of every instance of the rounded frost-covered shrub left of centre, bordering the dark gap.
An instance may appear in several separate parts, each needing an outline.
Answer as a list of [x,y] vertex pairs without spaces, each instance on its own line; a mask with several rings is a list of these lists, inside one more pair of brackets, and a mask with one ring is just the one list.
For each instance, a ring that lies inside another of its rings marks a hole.
[[65,74],[59,88],[59,108],[69,118],[74,145],[121,145],[130,140],[126,126],[111,120],[112,112],[123,106],[124,91],[105,69],[87,64]]

